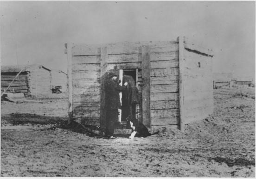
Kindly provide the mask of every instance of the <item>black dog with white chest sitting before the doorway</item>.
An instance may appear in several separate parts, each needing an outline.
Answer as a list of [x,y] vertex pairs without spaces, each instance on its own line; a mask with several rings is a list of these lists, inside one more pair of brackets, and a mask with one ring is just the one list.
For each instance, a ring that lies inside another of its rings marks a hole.
[[133,139],[135,135],[136,137],[147,137],[159,133],[159,131],[156,131],[153,134],[150,134],[147,127],[139,122],[133,115],[129,115],[126,120],[130,123],[132,128],[131,136],[129,136],[130,139]]

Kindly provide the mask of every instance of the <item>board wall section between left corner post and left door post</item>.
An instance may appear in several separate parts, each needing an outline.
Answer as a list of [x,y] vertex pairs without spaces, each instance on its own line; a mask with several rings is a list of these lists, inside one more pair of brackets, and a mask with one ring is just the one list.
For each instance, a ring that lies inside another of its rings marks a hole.
[[90,125],[100,123],[100,69],[98,55],[72,56],[73,117]]

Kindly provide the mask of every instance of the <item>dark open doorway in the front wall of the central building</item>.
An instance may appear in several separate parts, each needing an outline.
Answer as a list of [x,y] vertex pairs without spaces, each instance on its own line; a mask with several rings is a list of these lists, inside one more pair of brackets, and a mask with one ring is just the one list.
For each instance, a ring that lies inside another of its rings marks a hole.
[[[129,79],[130,77],[132,77],[132,79],[134,80],[134,84],[132,84],[133,86],[137,86],[138,84],[138,69],[123,69],[123,83],[124,83],[124,79]],[[126,117],[128,117],[128,115],[133,114],[135,117],[135,113],[136,113],[136,104],[135,105],[126,105],[127,98],[125,98],[125,95],[123,95],[122,97],[122,118],[121,118],[121,123],[126,125]]]

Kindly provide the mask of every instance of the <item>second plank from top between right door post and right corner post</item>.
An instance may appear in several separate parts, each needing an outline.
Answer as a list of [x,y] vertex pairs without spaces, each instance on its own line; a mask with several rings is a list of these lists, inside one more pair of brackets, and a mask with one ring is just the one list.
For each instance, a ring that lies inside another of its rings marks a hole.
[[150,61],[179,60],[179,51],[150,53]]

